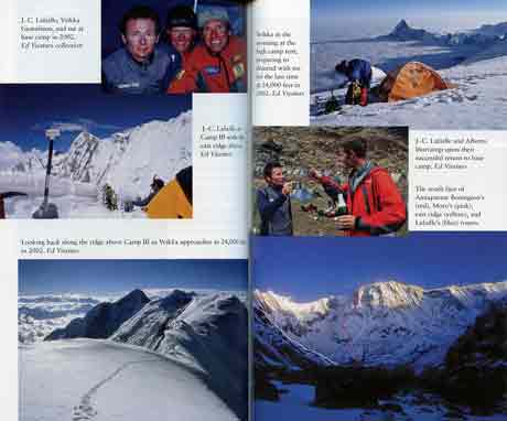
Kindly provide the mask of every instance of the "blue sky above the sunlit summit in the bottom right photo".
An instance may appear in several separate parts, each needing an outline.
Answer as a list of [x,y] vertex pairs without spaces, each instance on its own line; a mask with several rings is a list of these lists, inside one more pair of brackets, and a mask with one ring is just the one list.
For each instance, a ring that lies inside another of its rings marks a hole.
[[507,280],[507,234],[255,237],[254,288],[309,301],[389,279],[439,288]]

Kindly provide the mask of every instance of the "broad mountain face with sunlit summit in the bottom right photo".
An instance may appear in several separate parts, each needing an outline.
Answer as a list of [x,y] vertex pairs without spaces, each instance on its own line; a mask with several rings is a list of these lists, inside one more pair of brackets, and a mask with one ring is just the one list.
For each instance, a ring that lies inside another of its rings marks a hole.
[[[308,306],[288,305],[273,294],[256,292],[255,300],[287,336],[335,363],[420,369],[442,364],[475,317],[506,296],[507,281],[435,290],[389,281],[364,285],[349,298],[330,298],[327,310],[313,315]],[[255,330],[266,336],[265,325]]]

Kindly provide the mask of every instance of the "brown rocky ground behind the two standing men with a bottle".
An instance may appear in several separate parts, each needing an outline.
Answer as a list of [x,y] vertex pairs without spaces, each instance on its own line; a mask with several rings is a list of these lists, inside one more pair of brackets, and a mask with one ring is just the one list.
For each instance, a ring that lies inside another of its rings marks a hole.
[[[326,175],[347,179],[347,172],[337,163],[336,152],[350,136],[360,136],[369,141],[369,158],[377,165],[387,168],[407,199],[408,184],[408,129],[375,127],[269,127],[254,131],[255,174],[254,187],[265,185],[262,170],[269,161],[280,161],[288,181],[295,182],[313,194],[311,203],[319,209],[328,207],[328,197],[322,187],[309,177],[315,168]],[[308,203],[308,202],[306,202]],[[333,218],[303,212],[304,203],[292,197],[294,235],[339,236]],[[254,199],[254,229],[259,229],[259,214]],[[404,234],[406,228],[400,230]]]

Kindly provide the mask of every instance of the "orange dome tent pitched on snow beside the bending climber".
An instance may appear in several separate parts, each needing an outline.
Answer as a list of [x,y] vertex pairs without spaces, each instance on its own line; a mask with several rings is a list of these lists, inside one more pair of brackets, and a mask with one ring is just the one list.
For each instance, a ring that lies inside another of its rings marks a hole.
[[419,62],[409,62],[396,72],[389,73],[379,87],[380,99],[398,101],[428,95],[451,87],[430,66]]

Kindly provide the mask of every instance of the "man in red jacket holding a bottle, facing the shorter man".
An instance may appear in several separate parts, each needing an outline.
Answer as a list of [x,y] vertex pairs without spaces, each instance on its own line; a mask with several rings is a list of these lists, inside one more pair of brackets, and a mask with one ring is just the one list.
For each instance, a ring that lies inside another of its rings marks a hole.
[[310,172],[324,186],[346,194],[348,214],[337,217],[337,228],[355,237],[399,230],[407,220],[407,205],[388,171],[367,160],[366,140],[346,142],[339,160],[352,170],[348,183],[344,185],[315,170]]

